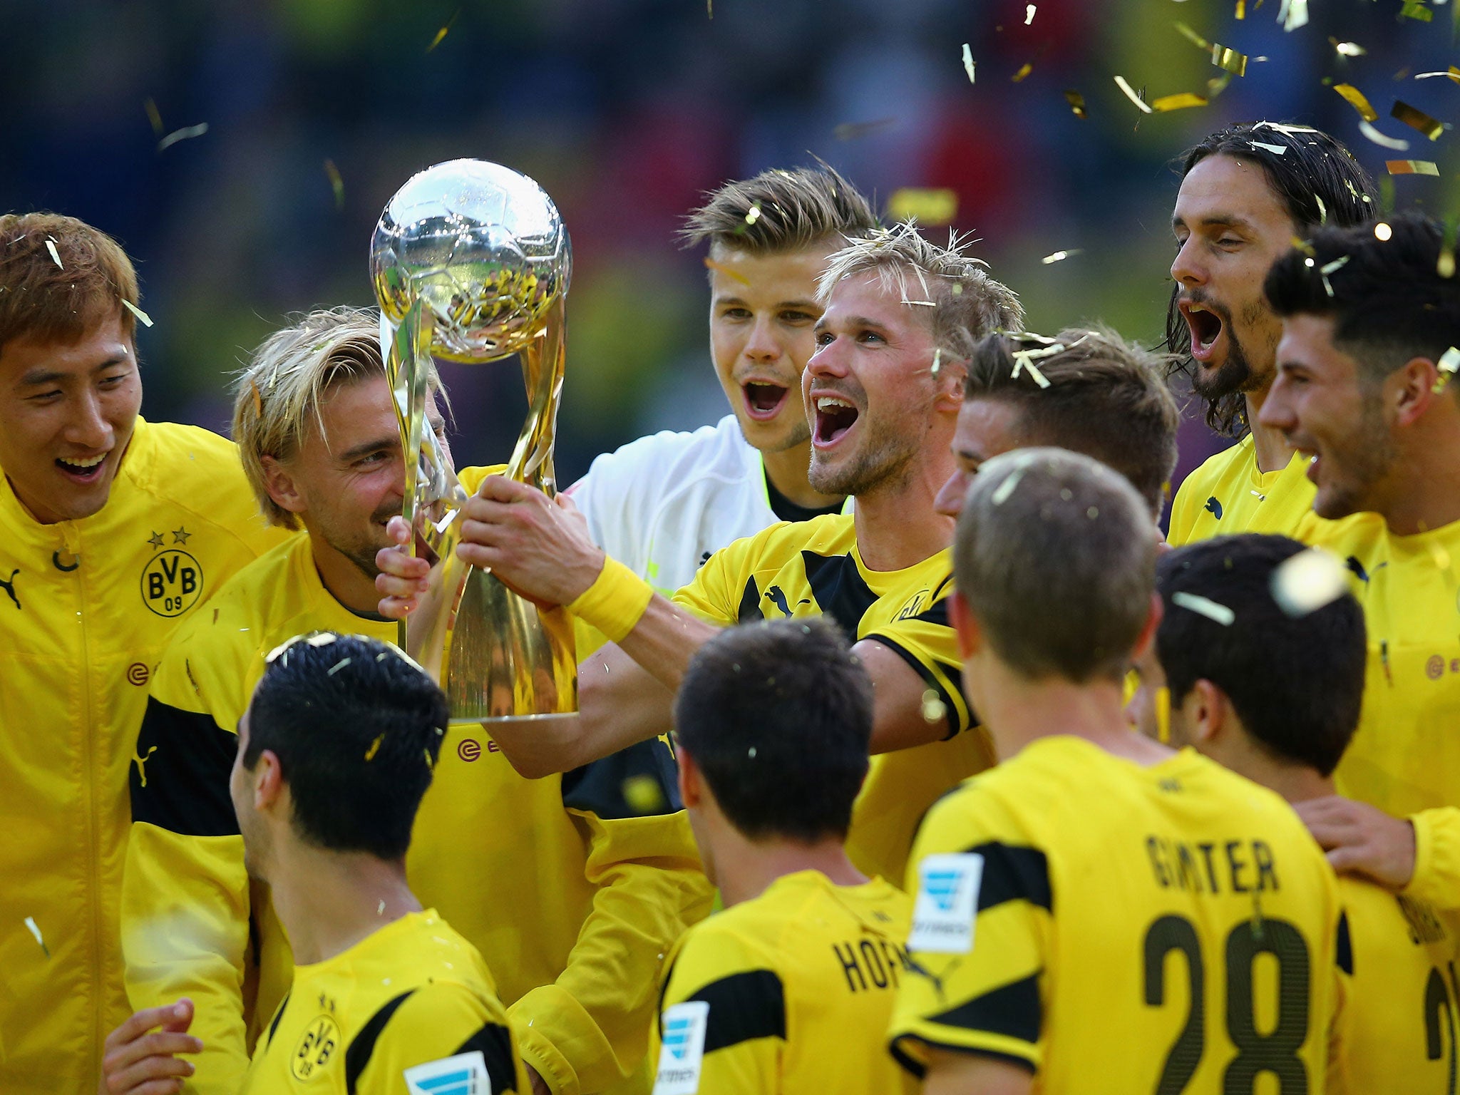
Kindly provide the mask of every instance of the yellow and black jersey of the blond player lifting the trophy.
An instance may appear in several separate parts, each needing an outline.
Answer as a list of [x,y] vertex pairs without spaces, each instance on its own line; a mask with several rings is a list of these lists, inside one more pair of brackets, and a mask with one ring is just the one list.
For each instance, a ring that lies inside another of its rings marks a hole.
[[953,590],[945,549],[901,571],[873,571],[857,552],[853,514],[775,524],[710,556],[675,603],[718,626],[780,616],[831,616],[848,641],[895,651],[927,685],[949,739],[873,758],[847,835],[867,875],[901,879],[917,822],[959,780],[993,762],[962,692],[958,639],[948,620]]

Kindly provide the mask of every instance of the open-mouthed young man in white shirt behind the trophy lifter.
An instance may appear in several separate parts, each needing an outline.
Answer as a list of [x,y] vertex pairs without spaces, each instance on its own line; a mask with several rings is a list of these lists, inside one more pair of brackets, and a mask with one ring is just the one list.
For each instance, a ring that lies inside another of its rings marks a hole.
[[710,241],[710,353],[731,413],[600,456],[569,489],[594,543],[666,597],[731,540],[841,511],[806,479],[800,384],[826,257],[875,225],[831,168],[729,182],[691,215],[686,241]]

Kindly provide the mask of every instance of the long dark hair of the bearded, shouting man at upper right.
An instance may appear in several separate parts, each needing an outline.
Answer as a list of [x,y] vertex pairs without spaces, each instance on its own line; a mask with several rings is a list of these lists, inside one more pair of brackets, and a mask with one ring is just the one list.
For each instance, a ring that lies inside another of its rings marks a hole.
[[[1260,166],[1267,185],[1292,218],[1298,237],[1307,237],[1320,225],[1348,228],[1378,216],[1380,194],[1374,180],[1343,142],[1321,130],[1270,121],[1228,126],[1177,158],[1181,178],[1207,156],[1232,156]],[[1177,308],[1180,295],[1178,282],[1171,286],[1171,304],[1167,307],[1167,349],[1175,355],[1171,372],[1191,377],[1196,362],[1186,320]],[[1245,415],[1247,403],[1241,391],[1206,400],[1206,423],[1219,434],[1245,434],[1251,425]]]

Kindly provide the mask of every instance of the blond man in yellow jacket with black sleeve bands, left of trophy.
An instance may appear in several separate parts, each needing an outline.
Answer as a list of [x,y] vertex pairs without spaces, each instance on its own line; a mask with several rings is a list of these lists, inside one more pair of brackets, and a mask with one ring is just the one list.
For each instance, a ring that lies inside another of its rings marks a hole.
[[[428,418],[439,434],[435,406]],[[374,613],[375,553],[404,491],[378,317],[314,312],[269,339],[238,380],[234,435],[269,517],[305,536],[235,575],[158,667],[123,888],[133,1007],[193,999],[203,1053],[190,1091],[201,1095],[238,1091],[292,975],[269,896],[248,885],[228,797],[248,696],[269,651],[293,635],[396,635]],[[470,491],[489,470],[460,477]],[[648,1091],[663,956],[710,910],[673,780],[653,740],[537,781],[518,777],[479,727],[444,742],[407,877],[486,958],[534,1091]],[[637,788],[657,790],[657,806],[635,807]]]

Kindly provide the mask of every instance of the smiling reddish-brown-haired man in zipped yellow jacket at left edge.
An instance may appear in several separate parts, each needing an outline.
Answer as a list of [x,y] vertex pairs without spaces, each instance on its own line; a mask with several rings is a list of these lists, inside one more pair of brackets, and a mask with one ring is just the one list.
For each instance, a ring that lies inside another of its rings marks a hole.
[[280,539],[232,444],[139,415],[137,302],[105,234],[0,216],[0,1091],[95,1089],[147,677]]

